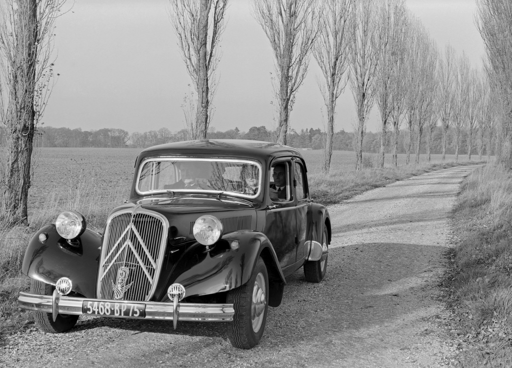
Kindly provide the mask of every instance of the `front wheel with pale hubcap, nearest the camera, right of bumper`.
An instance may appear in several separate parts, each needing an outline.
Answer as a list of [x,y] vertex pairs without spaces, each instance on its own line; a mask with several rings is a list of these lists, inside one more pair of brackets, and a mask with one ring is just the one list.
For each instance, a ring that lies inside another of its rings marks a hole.
[[233,303],[234,308],[233,321],[228,324],[227,334],[235,348],[251,349],[260,342],[267,321],[267,293],[267,267],[258,258],[249,281],[230,290],[227,295],[227,303]]

